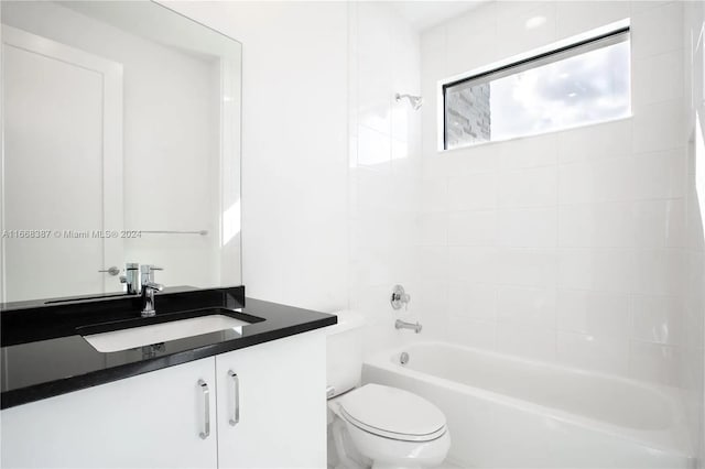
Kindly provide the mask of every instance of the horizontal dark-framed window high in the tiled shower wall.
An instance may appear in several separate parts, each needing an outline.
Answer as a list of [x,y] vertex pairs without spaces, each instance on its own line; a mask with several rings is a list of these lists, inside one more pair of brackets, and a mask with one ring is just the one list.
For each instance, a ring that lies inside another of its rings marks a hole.
[[444,149],[629,116],[629,26],[443,85]]

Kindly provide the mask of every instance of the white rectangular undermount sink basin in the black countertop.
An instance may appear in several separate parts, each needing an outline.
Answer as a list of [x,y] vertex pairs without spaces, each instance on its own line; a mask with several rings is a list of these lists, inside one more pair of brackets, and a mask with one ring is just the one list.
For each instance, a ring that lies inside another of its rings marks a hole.
[[171,323],[153,324],[151,326],[133,327],[131,329],[93,334],[90,336],[84,336],[84,339],[99,352],[115,352],[227,329],[234,329],[236,332],[242,334],[242,326],[249,324],[250,323],[229,316],[216,314],[191,319],[173,320]]

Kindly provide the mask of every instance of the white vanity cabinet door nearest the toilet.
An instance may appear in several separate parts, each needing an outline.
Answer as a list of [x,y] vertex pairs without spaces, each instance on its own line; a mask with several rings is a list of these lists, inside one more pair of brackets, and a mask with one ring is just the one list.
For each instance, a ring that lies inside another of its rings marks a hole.
[[326,467],[322,331],[216,357],[218,467]]

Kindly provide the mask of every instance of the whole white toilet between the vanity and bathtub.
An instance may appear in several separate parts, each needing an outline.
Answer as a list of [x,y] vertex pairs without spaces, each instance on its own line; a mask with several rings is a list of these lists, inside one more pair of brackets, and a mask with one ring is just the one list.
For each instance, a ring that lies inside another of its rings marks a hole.
[[445,415],[429,401],[401,389],[360,383],[361,315],[338,314],[328,328],[328,432],[336,469],[425,469],[451,448]]

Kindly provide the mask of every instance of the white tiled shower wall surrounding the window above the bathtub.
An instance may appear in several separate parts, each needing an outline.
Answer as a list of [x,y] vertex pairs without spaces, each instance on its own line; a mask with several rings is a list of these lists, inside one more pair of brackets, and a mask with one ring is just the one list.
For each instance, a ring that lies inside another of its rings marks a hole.
[[[682,2],[492,2],[422,34],[416,255],[451,340],[679,384],[683,15]],[[625,18],[632,117],[438,152],[438,80]]]

